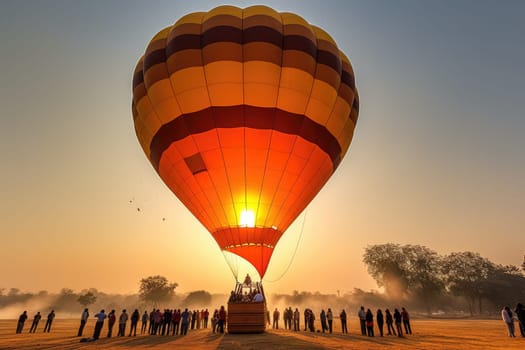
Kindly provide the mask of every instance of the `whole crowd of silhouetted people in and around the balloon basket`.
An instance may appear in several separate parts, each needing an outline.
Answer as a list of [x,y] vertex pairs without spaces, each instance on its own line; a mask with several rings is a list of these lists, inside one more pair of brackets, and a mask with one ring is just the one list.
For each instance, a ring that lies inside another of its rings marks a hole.
[[[250,299],[246,299],[249,302],[253,302],[253,298],[260,291],[254,290],[253,295]],[[241,293],[243,296],[246,293]],[[251,295],[248,293],[248,295]],[[230,302],[241,302],[241,299],[238,299],[238,293],[232,293]],[[513,312],[514,311],[514,312]],[[515,320],[518,321],[518,327],[522,337],[525,337],[525,307],[518,303],[514,310],[511,310],[509,306],[505,306],[502,311],[502,319],[505,322],[508,330],[509,337],[515,337]],[[78,329],[77,336],[82,337],[84,328],[89,321],[89,309],[85,308],[80,316],[80,326]],[[295,310],[292,307],[288,307],[283,311],[283,321],[285,330],[293,330],[295,332],[300,331],[300,318],[301,313],[298,308]],[[394,308],[394,311],[391,312],[390,309],[385,309],[384,313],[382,309],[377,309],[376,312],[372,312],[370,308],[365,310],[364,306],[357,312],[357,318],[359,320],[360,331],[363,336],[374,337],[379,335],[383,337],[384,335],[392,335],[403,337],[404,335],[412,334],[412,327],[410,324],[410,315],[406,308],[402,307],[400,310]],[[29,333],[35,333],[38,328],[38,324],[42,318],[40,312],[37,312],[33,316],[33,321],[29,329]],[[55,318],[55,311],[47,315],[46,323],[43,329],[43,332],[50,332],[51,325]],[[213,333],[224,333],[227,322],[227,313],[224,306],[221,306],[218,309],[215,309],[213,314],[210,317],[208,309],[201,310],[188,310],[188,308],[182,309],[153,309],[149,313],[144,311],[140,313],[138,309],[135,309],[131,316],[128,315],[126,309],[123,309],[120,315],[117,318],[116,311],[111,310],[106,314],[105,310],[100,310],[100,312],[94,315],[96,319],[93,336],[90,339],[97,340],[100,338],[102,329],[104,328],[104,322],[107,319],[107,333],[106,336],[111,338],[113,335],[113,327],[118,321],[118,331],[117,336],[125,336],[128,333],[128,336],[136,336],[137,329],[140,322],[140,331],[139,334],[148,334],[148,335],[186,335],[188,330],[194,329],[207,329],[209,321],[211,323],[211,330]],[[27,311],[24,311],[18,318],[18,323],[16,327],[16,333],[22,333],[24,324],[28,319]],[[279,322],[281,319],[281,313],[278,308],[275,308],[273,311],[273,329],[279,329]],[[130,321],[129,332],[126,331],[128,320]],[[323,332],[323,333],[332,333],[333,332],[333,321],[334,313],[331,308],[321,310],[319,313],[320,329],[315,327],[316,315],[310,308],[305,308],[303,311],[303,322],[304,322],[304,331],[310,332]],[[268,324],[270,324],[270,315],[267,315]],[[348,333],[347,327],[347,314],[343,309],[339,312],[339,322],[341,324],[341,332]],[[386,330],[385,330],[386,325]],[[377,333],[375,330],[377,329]]]

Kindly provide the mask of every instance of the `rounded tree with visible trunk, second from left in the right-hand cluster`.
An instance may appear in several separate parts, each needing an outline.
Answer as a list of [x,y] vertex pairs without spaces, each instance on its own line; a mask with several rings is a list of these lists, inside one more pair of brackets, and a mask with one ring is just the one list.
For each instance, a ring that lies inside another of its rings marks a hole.
[[496,266],[478,253],[452,253],[444,257],[442,271],[447,288],[467,301],[470,314],[474,306],[482,312],[482,301],[486,296],[489,277],[495,273]]

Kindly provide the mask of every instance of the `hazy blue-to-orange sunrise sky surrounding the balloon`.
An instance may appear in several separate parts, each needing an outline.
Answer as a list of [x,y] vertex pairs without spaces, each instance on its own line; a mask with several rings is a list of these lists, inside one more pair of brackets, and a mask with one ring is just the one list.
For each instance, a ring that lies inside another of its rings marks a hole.
[[[180,292],[232,288],[217,244],[143,154],[130,107],[151,37],[220,4],[0,0],[0,288],[129,293],[156,274]],[[264,4],[328,31],[361,97],[350,150],[277,246],[267,293],[377,288],[369,244],[521,264],[525,2]]]

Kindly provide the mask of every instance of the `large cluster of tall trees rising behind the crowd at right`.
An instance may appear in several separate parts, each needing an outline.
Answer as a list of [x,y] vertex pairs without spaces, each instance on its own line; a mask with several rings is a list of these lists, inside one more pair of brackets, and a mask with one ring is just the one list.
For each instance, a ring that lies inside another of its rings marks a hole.
[[428,314],[466,306],[470,315],[483,315],[525,299],[525,262],[520,268],[474,252],[439,255],[393,243],[368,246],[363,262],[388,298],[419,304]]

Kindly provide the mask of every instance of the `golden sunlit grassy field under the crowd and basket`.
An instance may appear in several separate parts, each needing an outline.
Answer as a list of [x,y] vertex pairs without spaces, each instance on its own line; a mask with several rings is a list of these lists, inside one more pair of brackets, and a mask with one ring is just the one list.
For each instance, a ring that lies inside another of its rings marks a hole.
[[[15,334],[16,320],[0,320],[0,349],[525,349],[525,338],[509,338],[500,320],[412,320],[414,334],[405,338],[394,336],[364,337],[356,320],[349,322],[349,334],[341,334],[334,320],[333,334],[292,332],[269,329],[263,334],[213,334],[210,329],[189,331],[181,336],[150,336],[106,338],[106,325],[96,342],[80,343],[76,336],[79,321],[57,319],[51,333],[42,333],[45,320],[37,333],[29,334],[31,320],[22,334]],[[93,334],[95,321],[90,320],[84,336]],[[129,327],[129,323],[128,323]],[[116,333],[116,329],[114,329]]]

